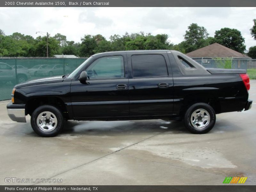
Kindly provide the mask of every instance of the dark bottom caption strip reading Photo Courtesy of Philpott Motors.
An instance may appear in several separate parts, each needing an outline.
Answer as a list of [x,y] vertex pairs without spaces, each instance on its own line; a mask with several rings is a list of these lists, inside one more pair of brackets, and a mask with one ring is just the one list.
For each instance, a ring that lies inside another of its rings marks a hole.
[[255,185],[2,185],[1,192],[255,192]]

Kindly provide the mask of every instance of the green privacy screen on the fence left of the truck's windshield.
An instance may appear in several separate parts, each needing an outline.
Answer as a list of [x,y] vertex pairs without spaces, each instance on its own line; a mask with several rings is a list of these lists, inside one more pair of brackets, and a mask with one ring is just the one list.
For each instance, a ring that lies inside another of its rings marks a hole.
[[0,58],[0,100],[11,99],[14,85],[74,71],[87,58]]

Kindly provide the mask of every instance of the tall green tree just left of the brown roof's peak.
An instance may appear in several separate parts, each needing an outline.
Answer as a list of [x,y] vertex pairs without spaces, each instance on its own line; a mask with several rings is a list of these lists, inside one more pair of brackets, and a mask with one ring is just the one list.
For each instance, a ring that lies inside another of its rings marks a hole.
[[196,49],[207,46],[208,43],[206,39],[208,36],[209,33],[204,27],[198,26],[196,23],[190,24],[184,35],[185,42],[183,48],[185,52],[195,51]]

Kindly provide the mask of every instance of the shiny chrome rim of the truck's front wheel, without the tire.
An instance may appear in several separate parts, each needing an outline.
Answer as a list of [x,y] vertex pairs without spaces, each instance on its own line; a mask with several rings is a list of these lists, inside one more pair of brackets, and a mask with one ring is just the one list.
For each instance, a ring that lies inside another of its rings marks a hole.
[[57,118],[50,111],[44,111],[37,116],[36,124],[44,132],[50,132],[57,126]]

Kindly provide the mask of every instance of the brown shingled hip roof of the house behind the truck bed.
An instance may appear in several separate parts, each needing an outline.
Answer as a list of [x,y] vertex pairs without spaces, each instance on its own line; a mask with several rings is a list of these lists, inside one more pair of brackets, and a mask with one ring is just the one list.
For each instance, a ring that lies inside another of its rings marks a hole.
[[195,51],[189,52],[186,54],[188,57],[191,58],[239,58],[239,59],[252,59],[242,53],[234,51],[233,49],[229,49],[221,44],[214,43]]

